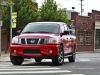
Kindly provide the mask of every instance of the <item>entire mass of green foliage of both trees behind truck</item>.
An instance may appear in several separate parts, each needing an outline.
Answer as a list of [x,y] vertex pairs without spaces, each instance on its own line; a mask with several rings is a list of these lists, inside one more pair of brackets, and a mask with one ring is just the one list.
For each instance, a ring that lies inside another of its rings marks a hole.
[[[54,0],[45,0],[40,9],[37,10],[35,0],[7,0],[13,2],[13,12],[17,12],[17,27],[13,28],[13,35],[18,29],[23,29],[29,22],[36,21],[57,21],[68,22],[67,14],[63,9],[58,8]],[[3,27],[10,33],[10,6],[5,7],[3,12]]]

